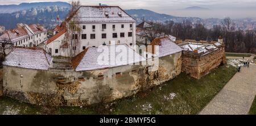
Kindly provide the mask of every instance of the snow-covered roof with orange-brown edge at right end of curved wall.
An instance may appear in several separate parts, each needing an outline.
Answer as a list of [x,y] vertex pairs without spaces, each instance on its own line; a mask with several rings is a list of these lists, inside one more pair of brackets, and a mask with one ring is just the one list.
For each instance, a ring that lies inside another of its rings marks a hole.
[[[158,57],[164,57],[182,51],[181,47],[175,44],[169,37],[156,38],[151,42],[152,46],[159,45]],[[155,49],[155,47],[154,47]],[[154,50],[155,51],[155,50]],[[156,50],[157,51],[157,50]],[[157,52],[155,52],[157,54]]]

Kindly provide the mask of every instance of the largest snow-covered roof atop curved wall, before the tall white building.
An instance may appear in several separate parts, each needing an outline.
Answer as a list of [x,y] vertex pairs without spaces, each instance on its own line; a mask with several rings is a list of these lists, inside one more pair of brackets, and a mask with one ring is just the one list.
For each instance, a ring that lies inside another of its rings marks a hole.
[[72,59],[76,71],[112,68],[142,62],[146,59],[126,44],[89,47]]

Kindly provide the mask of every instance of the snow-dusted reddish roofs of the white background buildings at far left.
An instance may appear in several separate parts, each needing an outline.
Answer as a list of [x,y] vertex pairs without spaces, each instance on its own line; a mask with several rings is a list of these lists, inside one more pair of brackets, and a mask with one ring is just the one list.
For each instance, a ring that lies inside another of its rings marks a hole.
[[27,24],[19,23],[17,24],[17,28],[5,31],[2,34],[2,36],[0,36],[0,39],[6,39],[6,40],[15,42],[15,41],[22,40],[32,35],[35,35],[41,32],[46,32],[46,31],[47,29],[42,27],[42,25],[40,24],[27,25]]

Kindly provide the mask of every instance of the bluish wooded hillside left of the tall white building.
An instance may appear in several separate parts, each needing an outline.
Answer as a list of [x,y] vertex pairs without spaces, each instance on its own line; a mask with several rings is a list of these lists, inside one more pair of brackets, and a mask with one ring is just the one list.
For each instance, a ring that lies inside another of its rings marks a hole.
[[60,16],[60,20],[63,20],[66,18],[68,11],[69,7],[67,6],[47,6],[30,8],[11,14],[0,14],[0,25],[3,25],[6,29],[13,29],[17,23],[39,23],[49,29],[56,26],[57,15]]

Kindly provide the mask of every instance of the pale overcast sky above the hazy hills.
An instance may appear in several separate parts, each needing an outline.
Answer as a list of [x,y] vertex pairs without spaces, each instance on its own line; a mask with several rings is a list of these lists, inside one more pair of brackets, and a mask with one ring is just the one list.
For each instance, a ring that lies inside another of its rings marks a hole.
[[[53,2],[70,0],[0,0],[0,5],[19,4],[22,2]],[[144,8],[164,14],[176,16],[197,16],[200,18],[233,18],[255,17],[256,0],[81,0],[82,5],[117,5],[123,9]],[[192,12],[180,10],[190,6],[209,8],[210,11]],[[224,11],[225,10],[225,11]],[[251,10],[254,10],[253,12]]]

